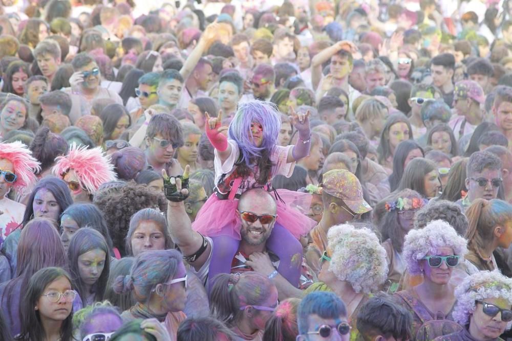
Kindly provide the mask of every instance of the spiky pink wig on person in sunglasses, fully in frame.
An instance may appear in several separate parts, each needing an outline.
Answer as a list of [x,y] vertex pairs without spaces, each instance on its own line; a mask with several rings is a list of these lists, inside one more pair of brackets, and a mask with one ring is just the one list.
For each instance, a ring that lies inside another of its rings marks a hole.
[[59,156],[53,167],[53,173],[62,177],[62,173],[73,169],[82,184],[89,193],[94,193],[98,188],[116,179],[114,166],[108,157],[103,155],[101,148],[87,149],[86,146],[77,146],[75,143],[69,148],[68,155]]

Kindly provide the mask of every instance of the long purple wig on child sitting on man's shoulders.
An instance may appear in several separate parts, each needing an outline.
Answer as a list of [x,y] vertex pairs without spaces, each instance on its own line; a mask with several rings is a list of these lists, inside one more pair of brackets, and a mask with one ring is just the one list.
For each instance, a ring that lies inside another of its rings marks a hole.
[[[263,143],[261,147],[252,142],[251,123],[258,122],[263,126]],[[270,102],[250,101],[240,105],[228,129],[228,138],[238,144],[242,161],[250,166],[255,159],[261,157],[264,150],[270,150],[276,145],[281,116]]]

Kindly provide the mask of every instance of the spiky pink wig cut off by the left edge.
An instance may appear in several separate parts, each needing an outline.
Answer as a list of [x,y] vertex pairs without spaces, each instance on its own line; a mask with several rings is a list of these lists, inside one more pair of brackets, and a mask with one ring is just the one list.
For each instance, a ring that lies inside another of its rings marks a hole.
[[41,167],[23,143],[19,141],[0,143],[0,158],[5,158],[12,163],[14,173],[17,175],[12,185],[15,190],[23,192],[36,182],[34,173],[40,171]]

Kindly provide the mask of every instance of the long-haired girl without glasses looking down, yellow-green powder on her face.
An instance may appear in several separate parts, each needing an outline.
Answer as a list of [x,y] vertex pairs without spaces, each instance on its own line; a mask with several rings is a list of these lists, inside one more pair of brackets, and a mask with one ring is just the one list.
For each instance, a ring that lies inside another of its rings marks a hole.
[[105,238],[90,228],[78,230],[69,244],[68,264],[73,287],[81,299],[76,310],[103,300],[110,271],[109,247]]

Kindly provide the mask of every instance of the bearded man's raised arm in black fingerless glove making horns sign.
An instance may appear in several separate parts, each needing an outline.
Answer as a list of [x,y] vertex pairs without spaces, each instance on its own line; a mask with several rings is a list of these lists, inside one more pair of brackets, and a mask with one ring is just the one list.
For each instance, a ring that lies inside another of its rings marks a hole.
[[[185,211],[183,200],[188,197],[189,171],[190,167],[187,165],[181,178],[168,178],[165,171],[162,172],[162,175],[165,184],[165,197],[169,200],[167,204],[167,223],[169,225],[170,235],[173,237],[173,241],[180,248],[185,258],[187,256],[198,255],[194,261],[189,260],[188,262],[196,270],[199,270],[208,259],[211,252],[211,245],[200,233],[192,230],[192,224]],[[185,184],[183,189],[182,179]],[[199,252],[201,249],[203,249],[202,253]]]

